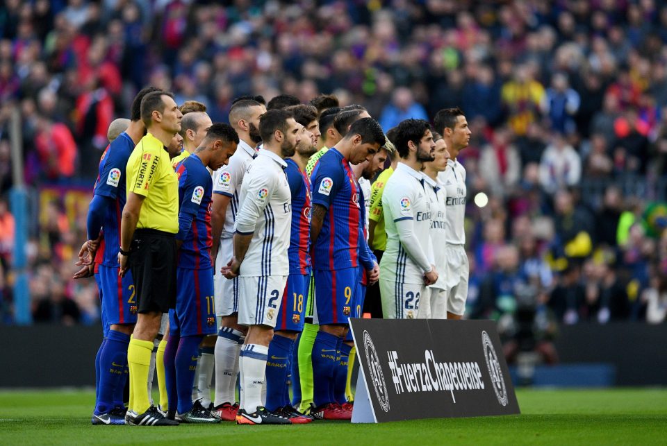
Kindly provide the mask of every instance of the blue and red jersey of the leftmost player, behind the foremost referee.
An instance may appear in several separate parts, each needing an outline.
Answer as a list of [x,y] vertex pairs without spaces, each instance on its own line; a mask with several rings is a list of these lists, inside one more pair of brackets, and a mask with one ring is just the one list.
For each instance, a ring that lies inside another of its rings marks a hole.
[[125,167],[134,150],[134,141],[122,132],[106,147],[99,159],[94,195],[113,200],[104,217],[102,232],[104,237],[97,249],[95,262],[104,266],[118,266],[118,247],[120,246],[120,220],[127,199],[125,189]]

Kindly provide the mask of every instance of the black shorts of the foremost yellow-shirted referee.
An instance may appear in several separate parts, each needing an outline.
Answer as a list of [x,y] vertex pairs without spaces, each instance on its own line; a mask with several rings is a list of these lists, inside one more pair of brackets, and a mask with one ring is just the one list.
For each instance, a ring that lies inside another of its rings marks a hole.
[[140,314],[176,308],[176,234],[135,230],[129,264]]

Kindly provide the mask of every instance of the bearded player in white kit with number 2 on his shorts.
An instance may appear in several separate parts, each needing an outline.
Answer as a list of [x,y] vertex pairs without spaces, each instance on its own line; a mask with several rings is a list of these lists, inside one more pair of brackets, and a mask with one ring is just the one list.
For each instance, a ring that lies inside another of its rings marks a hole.
[[264,146],[243,178],[234,257],[221,270],[227,279],[239,277],[238,323],[249,326],[239,359],[237,424],[292,424],[263,407],[262,386],[269,343],[290,273],[292,196],[284,158],[294,155],[301,129],[284,110],[269,110],[261,117],[259,132]]

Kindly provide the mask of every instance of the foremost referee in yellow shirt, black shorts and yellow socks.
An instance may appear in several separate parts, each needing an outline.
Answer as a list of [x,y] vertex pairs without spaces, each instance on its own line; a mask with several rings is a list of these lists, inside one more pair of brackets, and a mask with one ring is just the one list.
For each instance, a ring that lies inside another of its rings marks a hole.
[[147,134],[126,167],[127,202],[120,225],[120,274],[132,269],[137,324],[127,349],[130,402],[125,424],[174,426],[151,406],[148,388],[153,341],[163,313],[176,306],[176,233],[179,232],[179,180],[170,162],[172,138],[181,130],[174,95],[152,92],[141,101]]

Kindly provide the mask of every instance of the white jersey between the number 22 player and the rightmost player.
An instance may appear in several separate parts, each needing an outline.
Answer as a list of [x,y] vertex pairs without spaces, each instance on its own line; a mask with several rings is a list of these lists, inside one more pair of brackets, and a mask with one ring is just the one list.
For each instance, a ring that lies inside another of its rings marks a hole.
[[434,181],[424,175],[426,194],[431,201],[431,244],[433,245],[433,261],[438,271],[438,281],[431,287],[445,289],[447,277],[447,259],[445,245],[447,245],[446,215],[447,195],[445,188],[439,181]]

